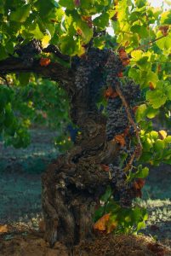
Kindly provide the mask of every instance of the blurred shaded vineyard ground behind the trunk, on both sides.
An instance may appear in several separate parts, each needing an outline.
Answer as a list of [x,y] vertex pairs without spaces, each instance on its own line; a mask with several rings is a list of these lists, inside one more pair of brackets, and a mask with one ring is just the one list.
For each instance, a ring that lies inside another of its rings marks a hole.
[[[4,148],[0,144],[0,224],[14,229],[38,230],[41,212],[41,174],[58,154],[52,141],[54,131],[31,130],[32,143],[26,149]],[[149,220],[142,233],[171,246],[171,166],[151,168],[143,198]],[[13,235],[3,236],[10,240]],[[5,254],[4,254],[5,255]],[[42,255],[42,254],[41,254]],[[48,255],[48,254],[47,254]],[[52,254],[53,255],[53,254]],[[95,254],[94,254],[95,255]]]

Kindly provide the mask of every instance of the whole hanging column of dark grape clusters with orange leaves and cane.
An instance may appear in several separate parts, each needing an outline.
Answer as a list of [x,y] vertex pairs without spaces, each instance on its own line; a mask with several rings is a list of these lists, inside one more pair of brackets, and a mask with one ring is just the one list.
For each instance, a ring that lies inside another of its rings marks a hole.
[[[131,79],[123,79],[124,65],[119,55],[111,49],[88,49],[87,55],[79,59],[76,67],[75,84],[79,92],[88,91],[90,111],[95,108],[100,90],[106,90],[107,100],[105,126],[106,141],[115,141],[118,136],[123,138],[120,144],[120,152],[117,160],[110,163],[109,172],[116,184],[119,203],[122,207],[130,207],[134,199],[134,183],[127,182],[125,171],[129,171],[135,164],[137,157],[137,145],[132,143],[132,138],[139,138],[138,127],[135,124],[132,108],[140,99],[140,87]],[[120,159],[127,154],[123,166],[120,167]]]

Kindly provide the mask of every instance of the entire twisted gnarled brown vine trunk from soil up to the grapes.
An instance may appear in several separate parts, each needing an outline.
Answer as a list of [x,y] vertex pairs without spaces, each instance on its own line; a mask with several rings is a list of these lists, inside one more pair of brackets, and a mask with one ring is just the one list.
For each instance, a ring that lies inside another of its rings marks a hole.
[[71,96],[71,119],[81,128],[75,147],[60,155],[43,175],[45,239],[67,247],[94,236],[93,215],[100,195],[111,183],[101,164],[111,163],[117,152],[105,140],[105,117],[88,102],[88,89]]

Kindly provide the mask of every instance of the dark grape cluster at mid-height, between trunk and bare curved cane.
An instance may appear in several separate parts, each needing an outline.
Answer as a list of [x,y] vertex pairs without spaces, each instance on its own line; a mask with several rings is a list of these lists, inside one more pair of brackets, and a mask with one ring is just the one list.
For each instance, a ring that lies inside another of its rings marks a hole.
[[123,133],[128,126],[128,117],[119,97],[109,98],[107,102],[106,139],[111,141],[117,134]]

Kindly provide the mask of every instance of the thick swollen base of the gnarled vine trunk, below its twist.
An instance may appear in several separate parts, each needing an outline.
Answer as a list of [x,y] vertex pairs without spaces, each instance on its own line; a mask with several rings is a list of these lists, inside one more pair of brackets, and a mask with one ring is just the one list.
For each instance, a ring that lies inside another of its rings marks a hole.
[[60,156],[43,175],[45,239],[51,246],[61,241],[72,247],[94,236],[94,208],[110,183],[100,165],[88,159],[69,165],[67,156]]

